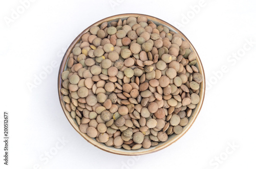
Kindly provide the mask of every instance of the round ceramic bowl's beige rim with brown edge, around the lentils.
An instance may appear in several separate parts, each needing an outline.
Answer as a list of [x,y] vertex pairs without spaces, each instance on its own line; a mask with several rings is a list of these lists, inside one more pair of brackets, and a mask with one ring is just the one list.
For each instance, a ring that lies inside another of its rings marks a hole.
[[[119,14],[119,15],[114,15],[114,16],[110,16],[110,17],[104,18],[104,19],[102,19],[100,21],[97,21],[96,23],[92,24],[91,26],[100,25],[103,22],[118,21],[119,19],[124,20],[124,19],[127,19],[130,16],[138,17],[140,15],[143,15],[143,14]],[[186,36],[183,35],[173,25],[171,25],[171,24],[169,24],[169,23],[167,23],[167,22],[165,22],[165,21],[163,21],[163,20],[161,20],[159,18],[153,17],[153,16],[148,16],[148,15],[143,15],[143,16],[146,16],[148,18],[148,21],[153,21],[156,25],[165,25],[165,26],[167,26],[170,31],[179,33],[182,36],[183,40],[189,42],[189,40],[186,38]],[[180,137],[182,137],[188,131],[188,129],[191,127],[191,125],[193,125],[193,123],[195,122],[195,120],[196,120],[196,118],[197,118],[197,116],[198,116],[198,114],[199,114],[199,112],[201,110],[201,107],[202,107],[202,104],[203,104],[203,101],[204,101],[204,94],[205,94],[205,75],[204,75],[204,69],[203,69],[203,65],[201,63],[201,60],[199,58],[199,55],[198,55],[196,49],[194,48],[194,46],[189,42],[190,49],[192,51],[194,51],[196,53],[196,55],[197,55],[196,56],[197,64],[195,66],[198,68],[199,72],[202,74],[203,81],[200,84],[200,91],[199,91],[200,102],[197,104],[196,108],[193,109],[193,112],[192,112],[191,116],[188,118],[189,122],[188,122],[188,124],[185,127],[183,127],[183,131],[180,134],[175,134],[174,133],[172,135],[169,135],[168,136],[168,140],[166,142],[160,142],[157,146],[151,147],[149,149],[144,149],[144,148],[141,148],[141,149],[138,149],[138,150],[117,149],[115,147],[108,147],[108,146],[106,146],[103,143],[99,143],[99,142],[96,141],[95,138],[91,138],[87,134],[82,133],[79,130],[79,125],[77,124],[76,120],[71,117],[70,112],[66,109],[65,102],[63,102],[63,95],[60,92],[60,89],[62,88],[62,86],[61,86],[61,82],[62,82],[61,73],[67,69],[67,61],[68,61],[69,54],[72,52],[72,49],[75,46],[75,44],[78,43],[81,40],[82,35],[84,33],[87,33],[91,26],[89,26],[81,34],[79,34],[75,38],[75,40],[71,43],[71,45],[69,46],[68,50],[66,51],[66,53],[65,53],[65,55],[64,55],[64,57],[63,57],[63,59],[61,61],[60,68],[59,68],[59,73],[58,73],[58,96],[59,96],[60,105],[61,105],[61,107],[63,109],[63,112],[64,112],[65,116],[67,117],[68,121],[70,122],[70,124],[74,127],[74,129],[84,139],[86,139],[92,145],[94,145],[97,148],[99,148],[101,150],[104,150],[106,152],[110,152],[110,153],[114,153],[114,154],[119,154],[119,155],[143,155],[143,154],[149,154],[149,153],[153,153],[153,152],[157,152],[159,150],[162,150],[162,149],[168,147],[169,145],[175,143]]]

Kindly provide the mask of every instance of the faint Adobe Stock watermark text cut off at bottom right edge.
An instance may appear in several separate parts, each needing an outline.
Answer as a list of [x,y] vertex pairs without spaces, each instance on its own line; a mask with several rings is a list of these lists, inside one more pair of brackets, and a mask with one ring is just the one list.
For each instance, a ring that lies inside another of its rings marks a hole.
[[210,166],[214,167],[214,169],[217,169],[220,167],[221,164],[224,163],[224,161],[226,161],[229,156],[231,154],[234,153],[234,151],[237,150],[237,148],[239,148],[239,146],[232,142],[232,143],[227,143],[227,147],[225,148],[225,150],[223,152],[221,152],[219,155],[214,156],[214,158],[212,158],[209,161]]

